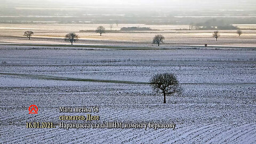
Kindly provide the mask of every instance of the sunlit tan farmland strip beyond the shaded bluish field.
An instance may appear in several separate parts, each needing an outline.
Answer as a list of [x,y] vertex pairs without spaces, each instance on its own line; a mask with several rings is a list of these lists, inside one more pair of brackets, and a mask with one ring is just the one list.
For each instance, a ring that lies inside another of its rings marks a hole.
[[[0,24],[0,43],[19,44],[68,44],[64,41],[67,33],[76,33],[80,41],[76,44],[122,44],[122,45],[152,45],[156,34],[165,36],[164,44],[168,45],[204,45],[229,47],[256,47],[255,25],[234,25],[242,28],[243,34],[239,37],[236,30],[219,30],[218,41],[212,37],[214,30],[186,30],[188,25],[142,25],[119,24],[114,25],[112,31],[109,24],[101,24],[107,33],[100,36],[94,33],[99,24]],[[150,31],[119,31],[122,27],[149,27]],[[180,30],[185,29],[185,30]],[[34,31],[33,37],[28,41],[23,36],[24,31]],[[84,30],[84,31],[80,31]]]

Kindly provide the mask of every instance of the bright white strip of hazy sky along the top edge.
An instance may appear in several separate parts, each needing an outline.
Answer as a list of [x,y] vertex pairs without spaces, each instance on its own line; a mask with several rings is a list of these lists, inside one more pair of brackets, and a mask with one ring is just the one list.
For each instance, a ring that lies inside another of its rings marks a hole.
[[[256,1],[253,0],[237,0],[237,1],[198,1],[198,0],[154,0],[154,1],[146,1],[146,0],[124,0],[124,1],[103,1],[103,0],[95,0],[95,1],[83,1],[83,0],[14,0],[14,1],[6,1],[1,0],[2,6],[20,6],[27,7],[29,6],[47,6],[47,7],[87,7],[87,6],[97,6],[97,7],[126,7],[126,8],[147,8],[153,7],[154,10],[159,9],[159,7],[172,8],[173,10],[206,10],[212,8],[214,6],[215,10],[227,9],[227,10],[256,10]],[[128,7],[127,7],[128,6]],[[133,6],[133,7],[130,7]]]

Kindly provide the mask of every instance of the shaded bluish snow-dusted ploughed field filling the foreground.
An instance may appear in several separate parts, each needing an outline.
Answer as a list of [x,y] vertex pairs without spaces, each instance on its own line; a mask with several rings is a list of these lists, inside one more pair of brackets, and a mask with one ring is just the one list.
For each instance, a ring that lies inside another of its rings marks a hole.
[[[256,142],[255,49],[18,48],[0,50],[0,143]],[[165,72],[177,75],[182,87],[182,95],[167,97],[166,105],[147,84],[51,79],[148,82],[154,74]],[[38,106],[38,115],[28,114],[32,104]],[[99,106],[100,123],[177,125],[174,131],[26,128],[26,122],[58,124],[63,115],[59,106]]]

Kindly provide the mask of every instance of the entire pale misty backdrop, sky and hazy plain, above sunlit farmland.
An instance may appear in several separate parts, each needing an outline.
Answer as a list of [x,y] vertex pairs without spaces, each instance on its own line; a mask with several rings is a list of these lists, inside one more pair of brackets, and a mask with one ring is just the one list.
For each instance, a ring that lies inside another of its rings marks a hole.
[[256,1],[253,0],[0,0],[0,3],[2,23],[113,23],[119,20],[123,23],[188,24],[211,18],[229,18],[229,23],[256,22],[252,19],[256,18]]

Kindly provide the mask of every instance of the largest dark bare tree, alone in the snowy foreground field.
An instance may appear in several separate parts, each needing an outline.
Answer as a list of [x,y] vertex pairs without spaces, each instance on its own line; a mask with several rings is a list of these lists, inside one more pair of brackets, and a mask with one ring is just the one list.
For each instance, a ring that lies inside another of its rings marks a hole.
[[180,92],[179,82],[173,74],[156,74],[151,77],[150,84],[155,92],[163,93],[164,103],[166,103],[166,95]]

